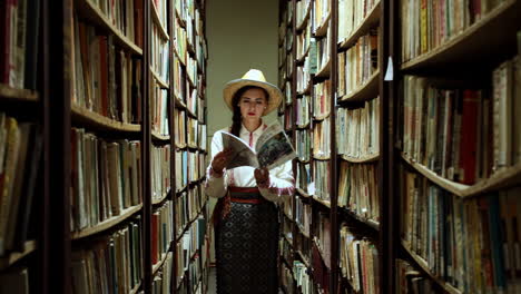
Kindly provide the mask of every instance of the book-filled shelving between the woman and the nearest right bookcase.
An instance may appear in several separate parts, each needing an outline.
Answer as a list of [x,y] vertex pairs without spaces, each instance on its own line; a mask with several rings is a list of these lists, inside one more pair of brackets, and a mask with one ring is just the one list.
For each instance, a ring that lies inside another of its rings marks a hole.
[[289,26],[296,46],[279,51],[294,69],[279,70],[294,107],[281,115],[298,154],[289,293],[387,293],[387,6],[301,0],[294,24],[281,21],[281,40]]

